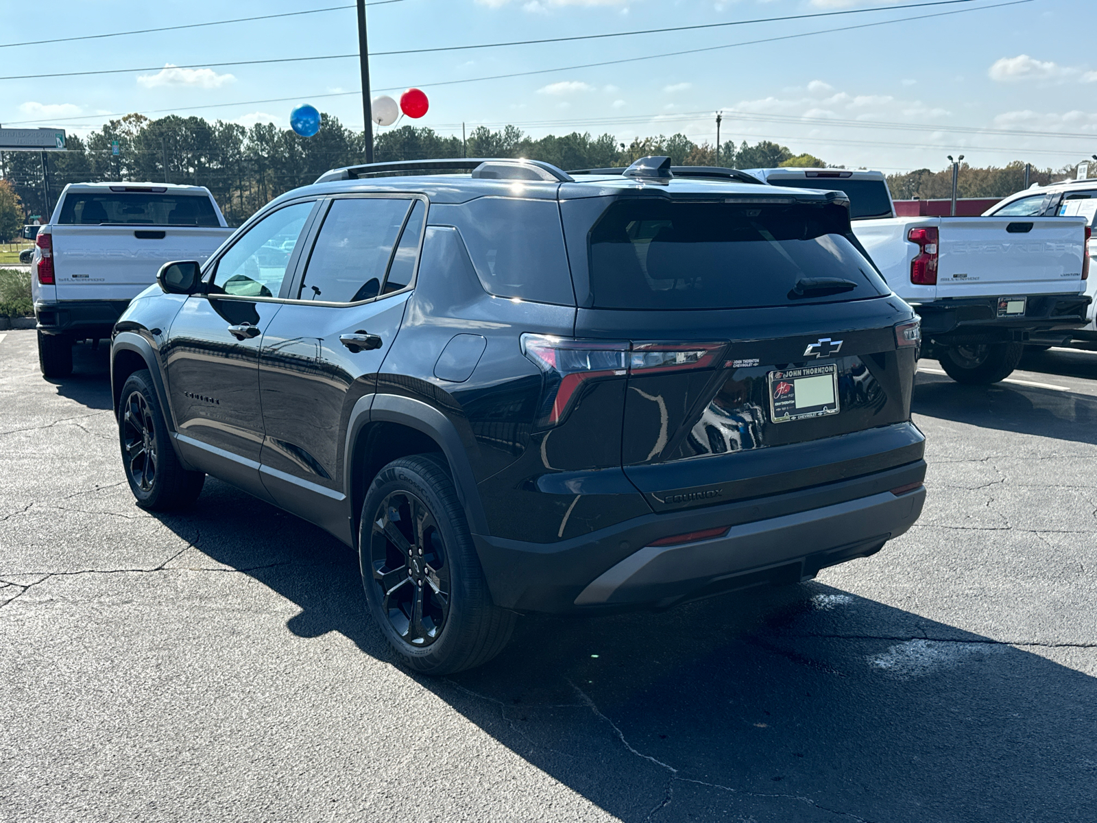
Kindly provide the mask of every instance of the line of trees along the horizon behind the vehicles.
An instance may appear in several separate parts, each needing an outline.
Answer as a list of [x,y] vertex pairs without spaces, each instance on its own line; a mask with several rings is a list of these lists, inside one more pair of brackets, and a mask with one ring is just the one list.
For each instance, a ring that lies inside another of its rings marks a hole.
[[[67,183],[162,181],[205,185],[229,225],[239,225],[273,198],[313,182],[328,169],[361,164],[364,155],[364,133],[347,128],[330,115],[323,116],[320,131],[314,137],[301,137],[271,123],[248,128],[194,116],[150,120],[127,114],[87,138],[69,136],[66,151],[46,154],[45,168],[41,154],[0,153],[0,177],[11,184],[24,218],[46,215],[47,203],[55,204]],[[698,144],[682,134],[637,137],[625,144],[611,134],[578,132],[534,138],[508,125],[498,131],[478,126],[463,139],[406,125],[381,132],[374,138],[374,159],[378,162],[527,157],[562,169],[586,169],[627,166],[645,155],[667,155],[681,166],[740,169],[827,165],[822,158],[794,154],[770,140],[755,145],[727,140],[717,150],[712,144]],[[1024,164],[1019,161],[1003,169],[964,166],[960,172],[961,196],[1005,196],[1021,188],[1022,178]],[[1039,169],[1033,170],[1031,182],[1055,178],[1051,169]],[[951,171],[919,169],[891,176],[889,183],[896,199],[948,196]]]

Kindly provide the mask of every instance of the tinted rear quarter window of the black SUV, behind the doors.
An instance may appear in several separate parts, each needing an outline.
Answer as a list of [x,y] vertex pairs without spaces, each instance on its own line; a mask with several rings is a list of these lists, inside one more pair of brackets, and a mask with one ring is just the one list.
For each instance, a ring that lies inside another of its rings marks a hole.
[[479,198],[444,215],[461,230],[489,294],[575,305],[556,201]]

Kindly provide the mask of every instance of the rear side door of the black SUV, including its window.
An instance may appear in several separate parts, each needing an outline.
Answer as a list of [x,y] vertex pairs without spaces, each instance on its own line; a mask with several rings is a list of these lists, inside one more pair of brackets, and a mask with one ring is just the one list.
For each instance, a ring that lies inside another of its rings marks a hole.
[[[275,501],[331,528],[343,500],[343,443],[404,317],[426,203],[331,201],[299,283],[268,326],[259,384],[262,480]],[[342,515],[344,528],[346,515]]]

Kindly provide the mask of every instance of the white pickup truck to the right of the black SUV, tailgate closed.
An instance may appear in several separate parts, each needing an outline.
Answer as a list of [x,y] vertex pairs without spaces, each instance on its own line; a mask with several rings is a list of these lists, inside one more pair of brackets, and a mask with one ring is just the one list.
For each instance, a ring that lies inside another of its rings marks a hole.
[[1025,342],[1087,322],[1085,217],[896,217],[879,171],[746,169],[772,185],[844,191],[853,234],[921,316],[923,357],[960,383],[995,383]]

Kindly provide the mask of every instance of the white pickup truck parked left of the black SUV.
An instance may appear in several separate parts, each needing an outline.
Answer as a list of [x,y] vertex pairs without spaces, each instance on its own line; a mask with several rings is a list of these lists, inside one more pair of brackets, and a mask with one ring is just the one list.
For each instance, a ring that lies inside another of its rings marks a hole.
[[129,301],[170,260],[203,261],[233,229],[210,190],[169,183],[70,183],[38,229],[31,292],[38,365],[72,371],[72,343],[111,336]]

